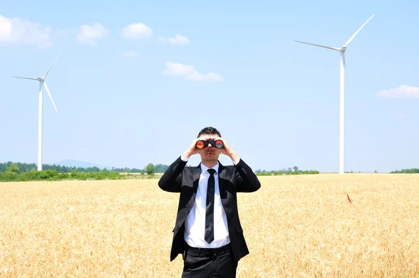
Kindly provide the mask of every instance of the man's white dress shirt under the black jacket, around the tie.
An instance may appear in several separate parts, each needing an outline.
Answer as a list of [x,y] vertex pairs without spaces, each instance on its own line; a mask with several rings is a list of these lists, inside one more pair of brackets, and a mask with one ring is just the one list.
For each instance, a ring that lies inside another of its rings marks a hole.
[[[183,161],[188,161],[187,158],[181,156]],[[185,220],[184,240],[190,247],[199,248],[217,248],[230,243],[230,236],[228,235],[228,224],[226,212],[221,203],[220,189],[219,189],[219,163],[212,169],[216,170],[214,174],[215,189],[214,189],[214,241],[211,244],[205,241],[205,207],[207,204],[207,184],[210,173],[207,166],[201,163],[201,173],[199,177],[198,189],[196,191],[195,202]]]

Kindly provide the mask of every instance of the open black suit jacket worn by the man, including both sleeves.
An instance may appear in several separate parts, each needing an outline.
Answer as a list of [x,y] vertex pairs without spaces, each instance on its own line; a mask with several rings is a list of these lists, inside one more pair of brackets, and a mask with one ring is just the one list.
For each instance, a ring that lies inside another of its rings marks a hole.
[[[184,222],[195,202],[200,177],[200,164],[197,167],[185,166],[186,161],[182,161],[179,156],[159,180],[159,186],[164,191],[180,193],[170,261],[173,261],[178,254],[182,254],[186,247]],[[249,254],[249,249],[244,240],[237,210],[237,192],[256,191],[260,189],[260,182],[251,168],[240,159],[235,166],[223,166],[219,163],[219,189],[221,203],[226,212],[233,256],[236,261],[239,261],[240,258]]]

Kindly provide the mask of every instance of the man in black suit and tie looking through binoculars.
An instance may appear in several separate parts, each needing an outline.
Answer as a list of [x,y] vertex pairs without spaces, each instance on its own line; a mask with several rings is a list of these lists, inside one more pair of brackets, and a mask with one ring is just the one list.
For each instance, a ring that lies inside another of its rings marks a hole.
[[[193,154],[200,154],[201,163],[185,167]],[[229,156],[234,166],[223,166],[218,160],[220,154]],[[221,133],[209,126],[169,166],[159,186],[180,193],[170,261],[182,254],[182,277],[235,277],[238,261],[249,254],[237,210],[237,192],[260,189],[251,168]]]

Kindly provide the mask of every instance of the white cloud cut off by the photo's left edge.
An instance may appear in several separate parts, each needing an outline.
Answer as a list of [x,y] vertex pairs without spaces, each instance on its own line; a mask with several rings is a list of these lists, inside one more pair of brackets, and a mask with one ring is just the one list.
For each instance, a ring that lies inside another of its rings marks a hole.
[[46,48],[52,45],[51,29],[37,22],[18,17],[8,18],[0,14],[0,43],[36,45]]

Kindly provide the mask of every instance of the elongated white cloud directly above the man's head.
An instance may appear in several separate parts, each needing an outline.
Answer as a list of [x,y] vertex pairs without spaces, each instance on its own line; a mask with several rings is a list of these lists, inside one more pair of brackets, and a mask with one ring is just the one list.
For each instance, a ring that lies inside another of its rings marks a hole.
[[224,78],[217,73],[199,73],[194,66],[172,63],[168,61],[163,75],[179,76],[193,81],[223,81]]

